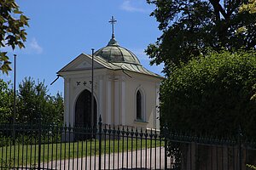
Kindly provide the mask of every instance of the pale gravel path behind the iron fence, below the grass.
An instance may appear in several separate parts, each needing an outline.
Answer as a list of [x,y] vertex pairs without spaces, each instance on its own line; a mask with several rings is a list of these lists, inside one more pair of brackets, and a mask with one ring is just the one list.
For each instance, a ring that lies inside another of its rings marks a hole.
[[[150,152],[151,150],[151,152]],[[147,155],[147,156],[146,156]],[[164,147],[102,155],[102,169],[164,169]],[[99,156],[61,160],[41,165],[45,169],[99,169]]]

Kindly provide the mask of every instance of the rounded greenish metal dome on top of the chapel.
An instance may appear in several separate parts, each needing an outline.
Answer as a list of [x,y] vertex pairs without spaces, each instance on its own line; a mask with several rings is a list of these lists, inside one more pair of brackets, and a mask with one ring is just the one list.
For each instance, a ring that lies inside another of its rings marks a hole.
[[97,50],[95,55],[102,57],[111,63],[130,63],[141,65],[137,56],[130,50],[120,47],[114,37],[110,39],[106,47]]

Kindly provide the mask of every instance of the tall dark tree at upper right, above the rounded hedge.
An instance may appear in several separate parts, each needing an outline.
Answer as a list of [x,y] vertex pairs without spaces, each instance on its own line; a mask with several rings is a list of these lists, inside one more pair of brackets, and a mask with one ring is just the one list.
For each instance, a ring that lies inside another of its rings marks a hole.
[[[148,0],[156,8],[151,16],[160,23],[162,35],[149,44],[146,53],[151,64],[165,63],[169,76],[173,65],[180,61],[206,54],[207,48],[245,50],[256,45],[256,14],[239,13],[241,4],[248,0]],[[237,33],[245,26],[247,33]]]

